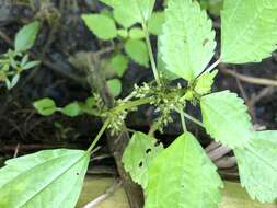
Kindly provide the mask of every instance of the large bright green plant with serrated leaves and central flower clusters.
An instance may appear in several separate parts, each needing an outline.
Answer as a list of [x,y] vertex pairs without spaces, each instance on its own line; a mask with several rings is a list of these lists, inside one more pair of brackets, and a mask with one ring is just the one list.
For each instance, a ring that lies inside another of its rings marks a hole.
[[[146,208],[213,208],[220,203],[223,183],[197,139],[188,132],[185,119],[196,123],[211,138],[234,150],[242,186],[253,199],[262,203],[276,200],[277,131],[255,131],[243,100],[228,90],[210,91],[218,63],[259,62],[276,49],[277,1],[224,0],[221,51],[210,67],[207,66],[215,56],[216,33],[211,20],[197,1],[168,2],[162,33],[157,33],[158,65],[149,38],[154,0],[101,1],[113,8],[112,16],[123,28],[117,28],[109,12],[84,14],[82,18],[89,28],[104,41],[118,35],[127,38],[123,41],[125,53],[145,66],[149,60],[155,82],[135,85],[134,92],[117,100],[112,109],[104,106],[97,94],[84,103],[74,102],[64,108],[57,107],[49,99],[35,102],[34,106],[42,115],[57,111],[69,116],[88,113],[105,122],[86,151],[46,150],[8,160],[0,171],[0,207],[74,207],[91,153],[101,136],[106,129],[113,134],[125,130],[122,125],[126,115],[143,104],[153,105],[160,116],[153,122],[149,135],[132,135],[123,163],[132,180],[143,188]],[[141,27],[132,28],[136,38],[129,39],[129,27],[137,23]],[[126,68],[122,49],[113,58],[122,59],[114,61],[120,62],[119,68]],[[137,59],[131,51],[136,56],[147,51],[149,59],[142,61],[145,54]],[[171,80],[177,78],[185,80],[187,85],[172,85]],[[186,113],[188,103],[200,107],[201,120]],[[174,111],[181,116],[184,132],[163,148],[151,135],[162,131],[172,122],[171,113]]]

